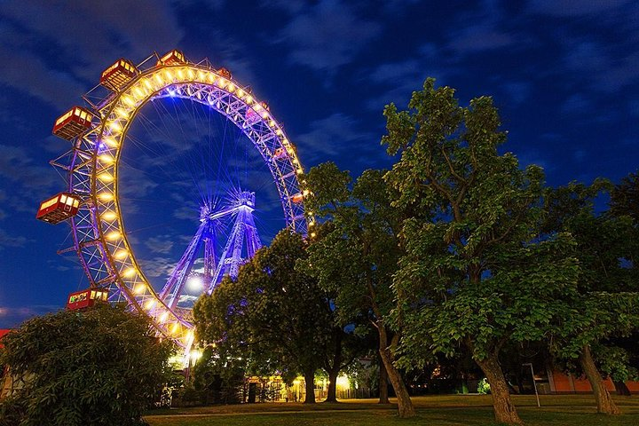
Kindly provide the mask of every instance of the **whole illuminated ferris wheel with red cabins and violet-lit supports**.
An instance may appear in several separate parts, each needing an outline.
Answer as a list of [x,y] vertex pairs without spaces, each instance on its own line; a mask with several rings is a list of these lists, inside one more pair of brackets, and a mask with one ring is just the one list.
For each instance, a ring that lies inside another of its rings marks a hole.
[[[193,343],[193,323],[190,309],[181,304],[185,284],[189,280],[200,280],[202,292],[210,293],[225,275],[236,277],[241,264],[261,247],[254,217],[257,188],[245,187],[246,182],[233,176],[233,172],[241,174],[237,166],[234,171],[225,170],[224,175],[235,185],[209,182],[209,188],[225,187],[225,196],[210,191],[204,193],[194,217],[199,225],[193,226],[193,236],[185,243],[182,256],[162,282],[162,288],[158,288],[157,280],[154,288],[154,282],[148,277],[156,274],[152,266],[136,256],[133,241],[136,238],[124,228],[124,215],[130,207],[126,194],[131,182],[122,178],[130,166],[122,154],[123,148],[134,145],[136,140],[144,139],[146,144],[147,138],[133,136],[136,126],[147,133],[161,127],[145,115],[151,105],[180,99],[196,106],[189,106],[193,116],[207,117],[205,120],[210,122],[209,114],[215,114],[226,127],[235,130],[235,136],[227,143],[231,146],[228,149],[237,150],[239,137],[245,138],[266,170],[268,178],[261,180],[276,190],[272,193],[280,205],[283,225],[291,231],[313,236],[314,221],[312,213],[304,209],[308,190],[304,189],[304,170],[296,148],[269,106],[256,99],[248,86],[234,80],[227,69],[212,67],[208,59],[193,63],[177,50],[162,57],[153,54],[138,65],[127,59],[117,60],[102,73],[99,86],[83,99],[86,106],[74,106],[60,116],[53,127],[53,134],[71,143],[65,154],[51,161],[64,170],[67,188],[43,201],[37,218],[53,224],[68,221],[71,225],[73,246],[61,251],[75,251],[90,282],[90,290],[95,290],[91,295],[108,294],[112,303],[129,304],[131,310],[148,315],[159,334],[188,349]],[[174,109],[175,105],[170,106]],[[166,110],[156,108],[158,115]],[[164,124],[171,131],[179,128],[185,141],[200,140],[207,149],[214,145],[213,137],[189,136],[187,126],[180,122]],[[177,146],[184,144],[177,141]],[[215,144],[224,146],[217,139]],[[155,154],[159,157],[162,153],[150,149],[146,154],[154,160]],[[166,157],[168,162],[175,161],[172,153]],[[136,156],[136,161],[138,158]],[[220,155],[202,159],[210,170],[216,162],[223,162]],[[166,169],[165,165],[162,163],[162,170]],[[245,174],[254,168],[248,164]],[[218,170],[222,170],[221,167]],[[222,180],[221,176],[218,173],[213,178]],[[255,184],[255,181],[254,178],[248,182]],[[193,185],[202,192],[199,181],[194,178]],[[162,225],[167,226],[170,224]],[[201,266],[199,271],[194,266],[197,263]],[[74,297],[77,303],[78,296]]]

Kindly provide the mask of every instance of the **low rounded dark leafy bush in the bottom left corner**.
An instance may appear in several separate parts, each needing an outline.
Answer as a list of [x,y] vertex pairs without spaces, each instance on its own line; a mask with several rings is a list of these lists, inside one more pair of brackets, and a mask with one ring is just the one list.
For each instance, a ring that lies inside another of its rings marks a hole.
[[3,340],[3,362],[25,387],[3,401],[4,421],[137,425],[169,380],[173,345],[146,316],[98,304],[29,319]]

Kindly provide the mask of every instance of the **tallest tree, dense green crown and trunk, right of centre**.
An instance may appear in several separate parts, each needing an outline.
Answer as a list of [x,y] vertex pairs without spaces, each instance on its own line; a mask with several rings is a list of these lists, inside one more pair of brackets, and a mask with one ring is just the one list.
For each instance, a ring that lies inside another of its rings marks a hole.
[[428,79],[409,109],[386,106],[383,144],[400,154],[385,178],[408,212],[394,290],[400,365],[429,351],[469,351],[491,385],[498,422],[521,423],[500,366],[508,342],[540,340],[574,291],[569,235],[540,240],[543,172],[499,154],[506,140],[492,99],[459,106]]

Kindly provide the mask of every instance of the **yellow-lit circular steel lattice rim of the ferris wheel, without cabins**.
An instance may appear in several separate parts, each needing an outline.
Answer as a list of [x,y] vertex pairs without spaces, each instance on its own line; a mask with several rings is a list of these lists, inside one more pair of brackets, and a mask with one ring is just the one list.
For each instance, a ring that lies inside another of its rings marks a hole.
[[237,125],[262,155],[280,193],[288,228],[306,234],[313,218],[304,210],[307,191],[295,146],[268,107],[228,72],[211,67],[207,59],[175,65],[162,65],[155,59],[159,59],[156,54],[138,65],[136,75],[117,91],[99,96],[99,90],[94,89],[84,96],[99,120],[51,164],[67,171],[68,191],[83,200],[71,219],[74,246],[63,251],[77,253],[91,287],[108,288],[112,302],[126,302],[131,309],[150,316],[160,334],[188,348],[193,343],[193,324],[184,312],[167,304],[146,279],[122,221],[118,162],[140,108],[152,99],[166,97],[191,99],[214,108]]

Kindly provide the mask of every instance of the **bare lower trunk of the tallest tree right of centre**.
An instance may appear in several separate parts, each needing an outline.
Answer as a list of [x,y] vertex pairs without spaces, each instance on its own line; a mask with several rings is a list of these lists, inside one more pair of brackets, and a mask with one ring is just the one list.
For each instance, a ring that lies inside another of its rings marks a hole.
[[508,383],[501,371],[497,354],[489,354],[486,359],[477,361],[477,365],[482,369],[491,385],[495,420],[507,424],[524,424],[517,414],[517,408],[510,400]]

